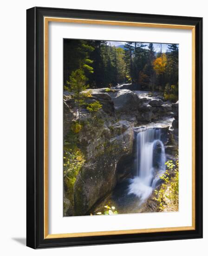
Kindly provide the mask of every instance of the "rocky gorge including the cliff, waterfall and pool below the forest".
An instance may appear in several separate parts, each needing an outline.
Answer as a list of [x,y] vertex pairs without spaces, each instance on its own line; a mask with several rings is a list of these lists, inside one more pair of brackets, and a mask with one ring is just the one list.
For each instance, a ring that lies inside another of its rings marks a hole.
[[[72,185],[64,179],[64,216],[94,215],[105,205],[115,206],[119,214],[158,211],[151,199],[165,162],[177,152],[178,102],[130,86],[91,89],[87,103],[98,101],[102,108],[80,109],[81,128],[73,135],[84,164]],[[66,144],[77,120],[77,109],[65,92]]]

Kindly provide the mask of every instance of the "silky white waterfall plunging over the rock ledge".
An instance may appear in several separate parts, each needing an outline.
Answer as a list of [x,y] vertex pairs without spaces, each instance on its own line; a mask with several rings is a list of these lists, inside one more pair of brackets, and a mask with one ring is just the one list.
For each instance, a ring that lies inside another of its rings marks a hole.
[[[159,147],[160,152],[156,149]],[[155,159],[156,158],[156,159]],[[154,166],[157,162],[157,168]],[[136,177],[131,180],[129,194],[144,202],[155,189],[159,176],[165,172],[165,148],[161,141],[161,129],[151,128],[136,134]]]

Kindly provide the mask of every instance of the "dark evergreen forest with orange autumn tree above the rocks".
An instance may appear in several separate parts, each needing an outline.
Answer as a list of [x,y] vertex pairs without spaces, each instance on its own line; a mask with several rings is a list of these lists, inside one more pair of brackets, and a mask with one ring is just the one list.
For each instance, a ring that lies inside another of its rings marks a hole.
[[[64,85],[81,70],[90,88],[130,83],[134,90],[158,91],[178,100],[178,45],[163,52],[153,43],[125,42],[116,47],[104,40],[64,40]],[[71,61],[73,60],[73,61]]]

